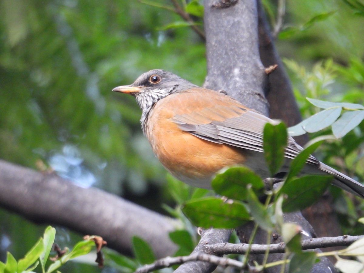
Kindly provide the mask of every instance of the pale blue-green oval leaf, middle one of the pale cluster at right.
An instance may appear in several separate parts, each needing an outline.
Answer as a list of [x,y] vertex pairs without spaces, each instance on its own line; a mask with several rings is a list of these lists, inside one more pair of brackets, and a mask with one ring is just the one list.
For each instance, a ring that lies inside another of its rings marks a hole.
[[341,107],[328,108],[321,112],[310,116],[306,122],[306,125],[303,126],[303,130],[309,133],[318,132],[328,126],[339,118],[341,114]]

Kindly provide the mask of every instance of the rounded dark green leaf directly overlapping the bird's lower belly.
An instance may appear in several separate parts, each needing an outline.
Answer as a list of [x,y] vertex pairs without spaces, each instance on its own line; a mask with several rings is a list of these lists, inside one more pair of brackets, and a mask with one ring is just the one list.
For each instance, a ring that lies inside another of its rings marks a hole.
[[215,193],[237,200],[246,199],[248,184],[256,191],[264,187],[261,177],[244,166],[224,168],[211,182]]

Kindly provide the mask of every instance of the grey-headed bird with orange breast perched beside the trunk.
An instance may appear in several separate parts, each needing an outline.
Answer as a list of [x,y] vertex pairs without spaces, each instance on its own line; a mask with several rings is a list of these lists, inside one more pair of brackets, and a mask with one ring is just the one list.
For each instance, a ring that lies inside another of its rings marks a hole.
[[[134,83],[112,91],[135,97],[142,110],[142,130],[154,154],[175,178],[211,189],[211,180],[224,167],[244,165],[262,178],[265,164],[263,129],[273,122],[225,92],[199,87],[179,76],[154,69]],[[303,148],[288,137],[280,173]],[[364,198],[364,186],[310,155],[301,174],[333,175],[333,185]]]

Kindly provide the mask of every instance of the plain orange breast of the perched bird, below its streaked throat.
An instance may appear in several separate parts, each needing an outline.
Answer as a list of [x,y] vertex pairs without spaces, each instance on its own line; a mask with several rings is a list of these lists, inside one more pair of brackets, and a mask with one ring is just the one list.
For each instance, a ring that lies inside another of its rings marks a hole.
[[245,157],[241,149],[206,141],[178,128],[172,118],[183,112],[184,103],[188,104],[187,112],[213,106],[198,99],[201,96],[192,97],[177,93],[159,100],[149,114],[146,134],[155,155],[171,174],[190,185],[210,188],[217,171],[244,164]]

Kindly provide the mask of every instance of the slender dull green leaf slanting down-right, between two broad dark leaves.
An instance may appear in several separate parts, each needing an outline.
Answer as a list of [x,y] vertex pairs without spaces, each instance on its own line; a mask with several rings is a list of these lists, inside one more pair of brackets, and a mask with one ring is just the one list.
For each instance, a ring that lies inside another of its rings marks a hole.
[[248,206],[250,214],[253,216],[254,221],[264,230],[269,231],[273,229],[273,223],[270,219],[268,210],[259,202],[257,195],[248,187]]

